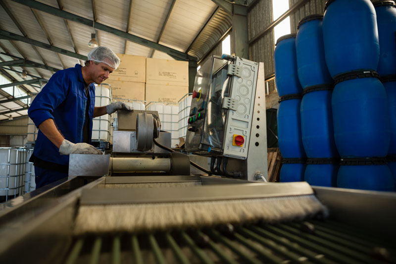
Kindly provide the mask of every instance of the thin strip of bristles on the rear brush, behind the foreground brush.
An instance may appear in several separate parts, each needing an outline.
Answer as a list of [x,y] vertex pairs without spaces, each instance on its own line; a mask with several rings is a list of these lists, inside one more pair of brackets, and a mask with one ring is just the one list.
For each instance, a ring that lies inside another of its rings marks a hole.
[[201,186],[200,181],[180,181],[180,182],[134,182],[134,183],[111,183],[99,184],[97,188],[158,188],[158,187],[190,187]]

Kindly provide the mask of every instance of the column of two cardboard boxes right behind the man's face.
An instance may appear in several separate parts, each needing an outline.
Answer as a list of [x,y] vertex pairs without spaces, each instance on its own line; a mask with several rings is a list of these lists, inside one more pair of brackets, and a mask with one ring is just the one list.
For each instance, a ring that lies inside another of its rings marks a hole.
[[117,56],[121,63],[105,81],[111,85],[112,98],[145,100],[146,57],[127,54]]

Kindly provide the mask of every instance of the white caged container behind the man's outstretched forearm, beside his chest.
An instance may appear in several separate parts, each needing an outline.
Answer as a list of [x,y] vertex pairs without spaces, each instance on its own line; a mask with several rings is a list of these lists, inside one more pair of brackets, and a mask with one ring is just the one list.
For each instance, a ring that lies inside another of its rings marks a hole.
[[[104,83],[95,85],[95,106],[100,107],[109,104],[111,104],[111,86]],[[93,119],[92,140],[110,140],[110,116],[108,114]]]

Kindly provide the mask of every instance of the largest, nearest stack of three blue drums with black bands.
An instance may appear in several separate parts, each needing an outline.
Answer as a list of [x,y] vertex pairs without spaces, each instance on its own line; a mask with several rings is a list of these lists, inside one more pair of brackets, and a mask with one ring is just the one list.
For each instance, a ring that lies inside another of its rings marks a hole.
[[376,72],[380,45],[369,0],[329,0],[323,18],[332,95],[334,137],[341,156],[337,185],[394,190],[386,163],[391,131],[385,88]]

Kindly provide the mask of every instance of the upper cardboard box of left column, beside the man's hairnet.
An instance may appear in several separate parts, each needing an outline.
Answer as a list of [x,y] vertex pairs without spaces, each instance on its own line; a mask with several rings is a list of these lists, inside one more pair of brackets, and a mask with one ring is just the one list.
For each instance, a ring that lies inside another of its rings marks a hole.
[[[107,80],[124,81],[124,82],[141,82],[146,81],[146,57],[127,54],[119,54],[121,63]],[[106,81],[107,82],[107,81]]]

